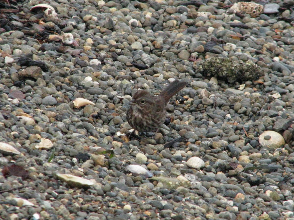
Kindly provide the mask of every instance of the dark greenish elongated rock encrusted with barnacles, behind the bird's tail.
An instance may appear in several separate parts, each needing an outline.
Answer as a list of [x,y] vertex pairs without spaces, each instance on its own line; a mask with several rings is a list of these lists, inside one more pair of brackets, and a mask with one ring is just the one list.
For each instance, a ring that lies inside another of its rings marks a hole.
[[197,72],[205,77],[215,76],[228,82],[256,80],[263,74],[251,60],[239,63],[223,57],[211,57],[205,60],[199,65]]

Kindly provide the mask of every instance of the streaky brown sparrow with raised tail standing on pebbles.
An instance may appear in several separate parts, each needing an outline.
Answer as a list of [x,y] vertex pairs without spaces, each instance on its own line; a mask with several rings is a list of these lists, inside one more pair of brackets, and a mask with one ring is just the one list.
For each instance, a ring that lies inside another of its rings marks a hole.
[[127,111],[130,126],[141,132],[156,132],[166,119],[165,108],[169,99],[186,85],[187,82],[177,79],[163,89],[158,96],[151,95],[146,90],[138,90]]

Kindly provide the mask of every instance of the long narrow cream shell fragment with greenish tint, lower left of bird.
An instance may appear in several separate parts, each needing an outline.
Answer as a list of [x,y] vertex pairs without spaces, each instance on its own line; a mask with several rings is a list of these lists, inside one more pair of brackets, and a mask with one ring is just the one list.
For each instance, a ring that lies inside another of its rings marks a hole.
[[57,173],[56,176],[59,180],[66,182],[71,187],[78,187],[78,188],[89,188],[96,183],[95,180],[87,180],[82,177],[77,177],[70,174],[61,174]]

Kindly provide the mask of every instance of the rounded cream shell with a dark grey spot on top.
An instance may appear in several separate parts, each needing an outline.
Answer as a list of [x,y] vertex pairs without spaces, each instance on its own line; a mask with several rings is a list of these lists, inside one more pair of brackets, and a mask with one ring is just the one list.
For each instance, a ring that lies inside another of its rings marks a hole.
[[282,135],[275,131],[264,131],[259,136],[259,143],[263,147],[279,148],[285,145],[285,140]]

